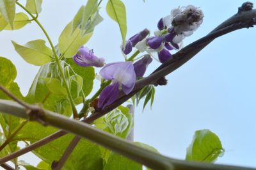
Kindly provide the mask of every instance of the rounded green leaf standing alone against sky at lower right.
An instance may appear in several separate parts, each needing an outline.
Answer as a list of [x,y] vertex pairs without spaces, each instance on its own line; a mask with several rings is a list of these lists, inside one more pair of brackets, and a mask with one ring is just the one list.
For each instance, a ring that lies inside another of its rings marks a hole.
[[219,137],[210,130],[197,130],[187,148],[186,160],[214,162],[224,153]]

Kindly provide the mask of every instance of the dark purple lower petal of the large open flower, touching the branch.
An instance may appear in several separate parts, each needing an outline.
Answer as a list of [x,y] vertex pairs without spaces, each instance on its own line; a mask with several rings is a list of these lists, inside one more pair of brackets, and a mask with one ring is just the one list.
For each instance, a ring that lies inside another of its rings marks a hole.
[[106,88],[101,91],[98,102],[98,107],[100,109],[104,109],[106,106],[116,101],[119,96],[118,86],[118,82],[115,82],[109,86],[106,86]]

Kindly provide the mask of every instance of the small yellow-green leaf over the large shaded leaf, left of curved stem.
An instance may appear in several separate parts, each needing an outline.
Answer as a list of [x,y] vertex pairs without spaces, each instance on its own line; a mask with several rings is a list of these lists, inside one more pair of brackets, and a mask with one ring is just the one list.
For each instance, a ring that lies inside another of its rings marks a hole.
[[59,79],[49,78],[49,77],[42,77],[45,81],[47,88],[51,93],[56,95],[65,95],[67,96],[67,90],[61,86],[61,82]]

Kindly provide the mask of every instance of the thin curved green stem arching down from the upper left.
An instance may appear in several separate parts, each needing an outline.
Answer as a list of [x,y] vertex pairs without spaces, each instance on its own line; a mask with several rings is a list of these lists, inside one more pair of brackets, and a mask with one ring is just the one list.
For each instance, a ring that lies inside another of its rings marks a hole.
[[49,35],[48,35],[47,32],[45,31],[45,29],[44,29],[44,27],[42,26],[42,24],[36,19],[36,17],[35,17],[32,13],[30,13],[30,12],[26,9],[26,7],[22,6],[22,4],[20,4],[19,2],[16,2],[16,4],[18,4],[18,5],[20,6],[20,8],[22,8],[23,10],[25,10],[25,11],[32,17],[32,19],[35,20],[36,24],[38,24],[38,26],[42,29],[44,35],[46,36],[48,42],[50,43],[51,49],[52,49],[52,52],[53,52],[53,55],[54,55],[55,60],[56,60],[56,63],[57,63],[57,65],[58,65],[58,68],[60,69],[61,78],[63,79],[64,86],[65,86],[65,88],[66,88],[66,90],[67,90],[67,93],[68,93],[68,98],[69,98],[70,104],[71,104],[71,106],[72,106],[73,116],[74,116],[74,118],[77,118],[78,115],[77,115],[76,105],[75,105],[75,103],[74,103],[74,100],[73,100],[72,95],[71,95],[71,93],[70,93],[70,90],[69,90],[69,88],[68,88],[68,83],[67,83],[67,80],[66,80],[66,78],[65,78],[65,75],[64,75],[64,72],[63,72],[61,63],[60,63],[60,59],[58,58],[58,54],[57,54],[56,50],[54,49],[54,45],[53,45],[53,43],[52,43],[52,41],[51,41],[51,38],[49,37]]

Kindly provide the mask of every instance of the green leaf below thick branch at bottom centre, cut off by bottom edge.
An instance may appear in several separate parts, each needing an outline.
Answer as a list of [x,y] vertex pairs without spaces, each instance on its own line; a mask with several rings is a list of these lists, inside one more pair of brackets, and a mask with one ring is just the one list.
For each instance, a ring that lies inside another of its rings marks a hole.
[[142,170],[142,165],[123,157],[117,153],[111,153],[108,162],[104,166],[104,170]]

